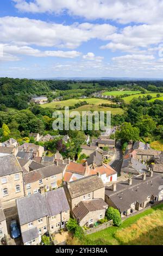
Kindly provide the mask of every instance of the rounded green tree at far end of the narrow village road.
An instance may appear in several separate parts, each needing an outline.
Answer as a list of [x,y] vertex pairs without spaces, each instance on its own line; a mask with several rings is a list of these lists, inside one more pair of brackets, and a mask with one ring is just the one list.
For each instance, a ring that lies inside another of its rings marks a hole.
[[139,140],[139,128],[133,127],[130,123],[124,123],[121,125],[120,130],[115,133],[116,139],[121,139],[122,143]]

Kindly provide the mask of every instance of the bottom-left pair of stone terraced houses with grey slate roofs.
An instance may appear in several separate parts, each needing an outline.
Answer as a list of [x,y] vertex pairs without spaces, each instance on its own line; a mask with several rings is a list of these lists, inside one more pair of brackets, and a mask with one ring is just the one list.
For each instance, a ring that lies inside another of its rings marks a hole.
[[39,245],[41,236],[65,228],[70,218],[64,188],[36,193],[16,201],[18,220],[24,245]]

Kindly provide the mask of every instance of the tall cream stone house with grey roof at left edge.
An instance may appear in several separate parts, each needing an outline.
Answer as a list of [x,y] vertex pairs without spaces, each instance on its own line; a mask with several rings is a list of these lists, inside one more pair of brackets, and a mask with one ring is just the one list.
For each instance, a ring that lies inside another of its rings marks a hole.
[[14,155],[0,157],[0,201],[2,208],[15,206],[15,200],[24,196],[23,172]]

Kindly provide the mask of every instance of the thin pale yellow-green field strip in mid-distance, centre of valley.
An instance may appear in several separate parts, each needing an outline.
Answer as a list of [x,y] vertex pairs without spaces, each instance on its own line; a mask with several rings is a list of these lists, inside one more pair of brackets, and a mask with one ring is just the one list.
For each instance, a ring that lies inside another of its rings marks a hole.
[[90,98],[90,99],[70,99],[70,100],[63,100],[63,101],[57,101],[57,102],[51,102],[44,105],[41,105],[41,107],[46,108],[56,108],[56,107],[68,107],[73,106],[79,102],[86,101],[89,104],[95,104],[100,105],[102,103],[111,104],[112,102],[109,100],[101,100],[96,98]]

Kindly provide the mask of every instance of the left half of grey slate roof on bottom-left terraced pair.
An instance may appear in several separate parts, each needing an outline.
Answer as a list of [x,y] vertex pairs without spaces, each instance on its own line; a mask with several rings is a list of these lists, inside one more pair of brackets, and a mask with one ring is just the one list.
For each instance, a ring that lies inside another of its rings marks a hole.
[[20,225],[48,216],[46,200],[40,193],[16,200]]

